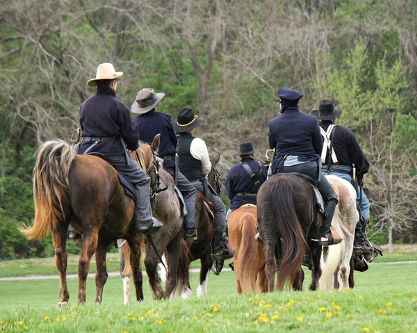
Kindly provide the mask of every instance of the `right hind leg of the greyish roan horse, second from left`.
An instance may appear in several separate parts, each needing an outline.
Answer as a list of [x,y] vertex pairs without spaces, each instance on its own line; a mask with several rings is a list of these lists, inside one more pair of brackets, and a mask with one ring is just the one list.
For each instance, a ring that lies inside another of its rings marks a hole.
[[167,245],[168,273],[165,283],[165,297],[170,300],[175,298],[175,289],[178,285],[178,264],[182,250],[182,238],[182,232],[179,232]]

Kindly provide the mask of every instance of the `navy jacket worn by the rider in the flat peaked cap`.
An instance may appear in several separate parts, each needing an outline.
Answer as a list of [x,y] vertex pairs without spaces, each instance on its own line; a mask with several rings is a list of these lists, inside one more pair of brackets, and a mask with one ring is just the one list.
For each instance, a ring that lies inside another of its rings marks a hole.
[[316,161],[320,158],[323,143],[316,117],[301,113],[297,106],[291,106],[270,120],[268,127],[270,149],[276,149],[273,173],[283,163],[284,156],[298,156],[299,161]]

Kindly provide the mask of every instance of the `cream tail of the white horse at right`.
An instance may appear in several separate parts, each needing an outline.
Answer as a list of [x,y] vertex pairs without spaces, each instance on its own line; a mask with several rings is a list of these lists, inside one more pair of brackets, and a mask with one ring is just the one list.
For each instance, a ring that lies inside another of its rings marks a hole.
[[333,288],[334,272],[336,272],[336,269],[341,264],[342,254],[345,251],[345,247],[346,247],[346,242],[345,242],[346,230],[343,227],[343,223],[341,220],[341,211],[340,211],[339,204],[336,205],[336,209],[334,211],[332,227],[334,227],[334,229],[336,229],[336,232],[339,235],[341,235],[344,239],[341,243],[328,247],[327,257],[325,259],[325,266],[324,268],[322,268],[322,275],[318,282],[320,289],[327,289],[329,287]]

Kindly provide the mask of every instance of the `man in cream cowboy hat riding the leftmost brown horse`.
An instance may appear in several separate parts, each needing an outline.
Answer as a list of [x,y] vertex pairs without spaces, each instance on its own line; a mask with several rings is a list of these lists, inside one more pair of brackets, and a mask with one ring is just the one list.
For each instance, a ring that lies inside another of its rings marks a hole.
[[[138,128],[131,120],[131,111],[116,99],[117,80],[123,72],[116,72],[111,63],[97,67],[95,79],[87,82],[97,86],[97,93],[80,106],[81,145],[78,154],[98,154],[131,181],[136,193],[134,221],[138,232],[151,234],[162,227],[152,217],[149,200],[151,179],[126,151],[139,146]],[[125,146],[126,145],[126,146]]]

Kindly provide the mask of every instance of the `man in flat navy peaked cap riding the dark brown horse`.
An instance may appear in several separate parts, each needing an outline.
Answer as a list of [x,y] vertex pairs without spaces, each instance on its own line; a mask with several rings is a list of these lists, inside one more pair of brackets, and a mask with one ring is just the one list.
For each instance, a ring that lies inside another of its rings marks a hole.
[[318,190],[325,203],[325,215],[318,232],[318,244],[332,245],[334,237],[330,230],[338,197],[332,185],[320,172],[322,138],[315,117],[300,112],[298,101],[304,96],[291,88],[280,88],[277,92],[281,115],[268,123],[270,149],[275,149],[272,174],[299,172],[317,182]]

